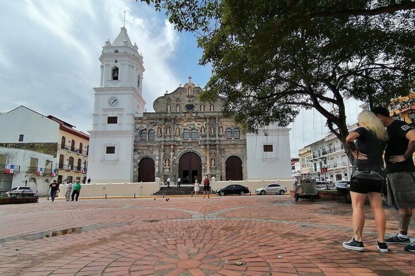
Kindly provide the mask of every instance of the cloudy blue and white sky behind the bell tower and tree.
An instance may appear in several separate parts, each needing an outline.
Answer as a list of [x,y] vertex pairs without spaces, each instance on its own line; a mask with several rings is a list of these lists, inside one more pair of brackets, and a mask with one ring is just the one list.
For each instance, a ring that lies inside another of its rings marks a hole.
[[[0,112],[26,106],[53,115],[78,130],[92,129],[93,87],[99,86],[104,42],[123,25],[144,57],[143,98],[147,111],[165,91],[192,77],[205,86],[211,67],[198,65],[202,49],[193,34],[174,30],[163,13],[135,0],[2,1],[0,9]],[[359,112],[346,103],[347,123]],[[328,131],[317,111],[301,111],[290,127],[291,156]]]

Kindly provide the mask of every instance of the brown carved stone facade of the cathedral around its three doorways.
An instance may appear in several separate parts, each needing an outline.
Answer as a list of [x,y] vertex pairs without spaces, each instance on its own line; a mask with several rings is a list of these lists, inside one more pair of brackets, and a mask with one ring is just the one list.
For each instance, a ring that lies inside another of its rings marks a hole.
[[[221,101],[201,102],[201,92],[201,87],[189,81],[156,99],[155,112],[144,112],[143,117],[135,118],[134,181],[138,181],[138,164],[146,157],[155,162],[155,174],[162,182],[168,177],[173,182],[178,177],[183,181],[179,161],[186,152],[200,157],[202,175],[218,180],[227,179],[226,160],[237,156],[242,161],[242,177],[247,178],[245,135],[232,118],[222,116]],[[154,140],[150,133],[155,134]]]

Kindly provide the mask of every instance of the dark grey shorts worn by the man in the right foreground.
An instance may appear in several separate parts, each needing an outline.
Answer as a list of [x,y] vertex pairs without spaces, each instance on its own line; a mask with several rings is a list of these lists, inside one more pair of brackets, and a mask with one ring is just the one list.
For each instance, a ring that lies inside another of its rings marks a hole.
[[386,178],[388,204],[399,208],[415,208],[415,172],[392,172]]

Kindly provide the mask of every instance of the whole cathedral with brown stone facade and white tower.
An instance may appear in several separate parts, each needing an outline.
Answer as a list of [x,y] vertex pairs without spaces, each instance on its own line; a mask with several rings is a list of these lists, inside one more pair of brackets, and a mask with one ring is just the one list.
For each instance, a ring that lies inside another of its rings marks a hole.
[[125,27],[105,42],[100,86],[95,87],[89,131],[88,177],[94,183],[183,184],[217,180],[291,179],[289,129],[267,126],[244,134],[222,116],[222,102],[201,102],[191,82],[157,98],[147,112],[142,97],[143,57]]

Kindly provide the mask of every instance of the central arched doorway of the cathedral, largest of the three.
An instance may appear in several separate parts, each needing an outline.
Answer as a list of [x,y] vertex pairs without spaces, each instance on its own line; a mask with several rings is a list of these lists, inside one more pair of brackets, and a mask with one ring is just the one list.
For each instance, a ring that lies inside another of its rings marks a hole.
[[194,152],[184,153],[179,160],[179,177],[183,184],[202,180],[202,159]]

